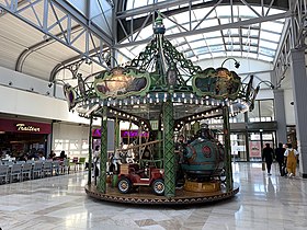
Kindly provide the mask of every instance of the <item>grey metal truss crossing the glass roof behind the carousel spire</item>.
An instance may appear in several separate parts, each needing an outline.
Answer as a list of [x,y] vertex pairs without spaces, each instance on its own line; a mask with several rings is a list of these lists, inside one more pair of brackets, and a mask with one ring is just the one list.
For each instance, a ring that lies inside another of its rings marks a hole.
[[[253,0],[253,1],[246,1],[246,0],[218,0],[218,1],[208,1],[208,2],[202,2],[202,3],[194,3],[196,2],[194,0],[178,0],[178,1],[163,1],[158,2],[152,5],[146,5],[134,10],[127,10],[122,9],[122,11],[117,12],[116,21],[117,21],[117,27],[118,27],[118,42],[123,41],[124,38],[128,39],[128,43],[126,44],[120,44],[117,43],[115,45],[116,48],[121,47],[128,47],[133,45],[140,45],[146,44],[150,42],[150,38],[137,41],[139,32],[146,27],[147,25],[152,23],[152,20],[155,18],[155,13],[157,10],[159,10],[164,19],[170,20],[172,23],[174,23],[179,28],[181,28],[180,33],[167,35],[166,37],[168,39],[177,38],[177,37],[183,37],[183,36],[190,36],[190,35],[196,35],[202,33],[208,33],[208,32],[215,32],[220,31],[223,33],[223,30],[227,28],[241,28],[247,27],[252,24],[261,23],[261,22],[268,22],[268,21],[275,21],[280,19],[285,19],[291,16],[291,12],[287,8],[287,0],[282,1],[263,1],[263,0]],[[200,2],[200,1],[197,1]],[[249,3],[251,2],[251,3]],[[269,2],[269,3],[268,3]],[[184,4],[184,7],[180,7],[180,4]],[[186,7],[187,4],[187,7]],[[219,25],[216,26],[208,26],[207,19],[209,18],[211,13],[216,10],[219,5],[230,5],[230,18],[229,23],[224,23],[219,21]],[[245,21],[238,21],[236,22],[236,16],[234,13],[234,8],[236,5],[246,5],[248,7],[255,15],[255,18],[252,18],[250,20]],[[174,7],[178,7],[178,9],[173,9]],[[181,13],[181,12],[189,12],[189,15],[193,14],[193,10],[200,9],[200,8],[208,8],[212,9],[209,12],[204,15],[195,25],[195,23],[191,20],[190,16],[190,25],[183,27],[181,24],[177,23],[174,20],[171,19],[172,15]],[[261,13],[255,10],[255,7],[261,7]],[[278,13],[270,15],[270,10],[272,8],[282,8],[285,10],[285,13]],[[169,10],[172,9],[172,10]],[[145,16],[139,18],[139,14],[146,14]],[[152,18],[150,20],[150,18]],[[187,28],[189,27],[189,28]],[[138,33],[135,33],[138,32]],[[240,32],[241,33],[241,32]],[[242,45],[242,44],[241,44]]]

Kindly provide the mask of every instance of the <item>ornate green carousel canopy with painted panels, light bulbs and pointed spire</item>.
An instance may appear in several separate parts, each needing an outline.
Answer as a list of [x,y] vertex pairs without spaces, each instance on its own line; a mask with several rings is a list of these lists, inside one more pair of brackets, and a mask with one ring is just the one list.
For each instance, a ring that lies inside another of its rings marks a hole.
[[[162,104],[172,102],[175,127],[186,122],[221,116],[223,106],[231,115],[253,107],[259,89],[252,88],[223,65],[204,70],[184,58],[164,38],[166,28],[160,16],[154,26],[155,37],[125,67],[114,67],[91,78],[78,78],[78,85],[65,84],[69,110],[80,116],[100,115],[107,107],[109,117],[132,120],[152,129],[159,120]],[[239,62],[235,60],[235,67]]]

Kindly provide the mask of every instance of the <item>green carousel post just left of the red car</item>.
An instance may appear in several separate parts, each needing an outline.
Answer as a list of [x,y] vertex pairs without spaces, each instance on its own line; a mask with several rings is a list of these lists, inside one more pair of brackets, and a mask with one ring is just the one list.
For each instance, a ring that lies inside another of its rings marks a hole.
[[102,108],[101,118],[101,148],[100,148],[100,173],[98,191],[106,193],[106,161],[107,161],[107,107]]

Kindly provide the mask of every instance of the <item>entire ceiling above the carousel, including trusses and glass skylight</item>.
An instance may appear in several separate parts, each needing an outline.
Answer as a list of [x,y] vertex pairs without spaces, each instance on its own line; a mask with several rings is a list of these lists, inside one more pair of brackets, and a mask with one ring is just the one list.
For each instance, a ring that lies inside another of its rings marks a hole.
[[137,56],[157,12],[192,61],[270,61],[276,83],[305,38],[306,0],[0,0],[0,66],[47,81],[92,74],[110,67],[106,50]]

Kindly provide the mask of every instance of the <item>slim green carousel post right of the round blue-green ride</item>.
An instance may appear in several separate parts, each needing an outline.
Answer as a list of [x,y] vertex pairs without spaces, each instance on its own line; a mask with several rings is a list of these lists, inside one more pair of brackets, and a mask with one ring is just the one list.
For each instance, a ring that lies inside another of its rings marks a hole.
[[229,107],[223,107],[224,119],[224,145],[225,145],[225,171],[226,171],[226,189],[229,192],[234,187],[232,166],[231,166],[231,146],[230,146],[230,125],[229,125]]

